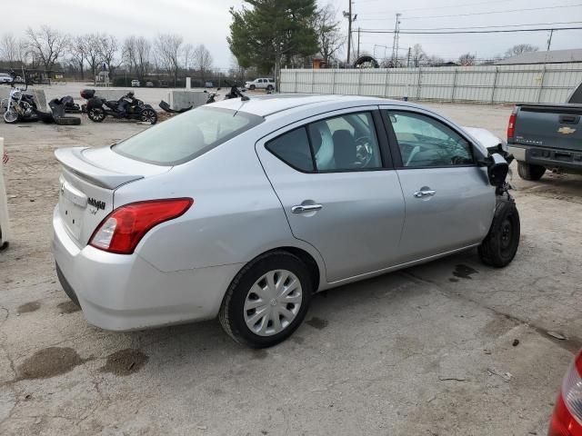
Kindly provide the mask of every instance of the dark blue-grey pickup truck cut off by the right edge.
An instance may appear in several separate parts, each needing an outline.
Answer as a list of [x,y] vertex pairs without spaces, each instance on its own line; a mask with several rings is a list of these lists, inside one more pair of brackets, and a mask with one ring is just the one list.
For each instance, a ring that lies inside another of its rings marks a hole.
[[539,180],[547,169],[582,173],[582,84],[567,104],[516,104],[507,125],[509,152],[517,173]]

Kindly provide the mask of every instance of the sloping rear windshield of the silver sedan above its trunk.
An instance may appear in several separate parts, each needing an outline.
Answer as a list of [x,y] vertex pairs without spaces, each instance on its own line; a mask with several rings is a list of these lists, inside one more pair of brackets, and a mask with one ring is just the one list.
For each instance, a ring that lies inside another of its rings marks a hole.
[[202,106],[115,144],[115,153],[156,165],[177,165],[263,122],[263,117]]

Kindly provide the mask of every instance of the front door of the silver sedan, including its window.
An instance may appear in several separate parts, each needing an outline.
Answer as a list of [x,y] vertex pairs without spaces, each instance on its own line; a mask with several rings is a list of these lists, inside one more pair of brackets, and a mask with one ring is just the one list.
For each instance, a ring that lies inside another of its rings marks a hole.
[[495,208],[487,169],[473,146],[436,114],[402,107],[382,110],[406,203],[400,242],[414,261],[481,242]]

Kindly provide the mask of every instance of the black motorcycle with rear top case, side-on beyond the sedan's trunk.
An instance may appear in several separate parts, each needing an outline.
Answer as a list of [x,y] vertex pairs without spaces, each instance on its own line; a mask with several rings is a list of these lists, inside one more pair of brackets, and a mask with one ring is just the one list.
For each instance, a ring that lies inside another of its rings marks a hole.
[[95,123],[101,123],[107,115],[114,118],[125,118],[130,120],[140,120],[149,124],[156,124],[157,114],[150,104],[134,97],[130,91],[119,100],[105,100],[95,96],[94,89],[84,89],[81,97],[87,100],[85,111],[89,119]]

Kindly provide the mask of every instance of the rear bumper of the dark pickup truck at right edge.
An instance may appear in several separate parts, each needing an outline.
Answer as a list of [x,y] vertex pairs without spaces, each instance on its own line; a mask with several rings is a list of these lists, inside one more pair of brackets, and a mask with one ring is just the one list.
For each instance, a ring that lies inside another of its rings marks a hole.
[[560,167],[582,171],[582,152],[515,144],[508,145],[507,151],[513,154],[517,161],[542,165],[546,168]]

